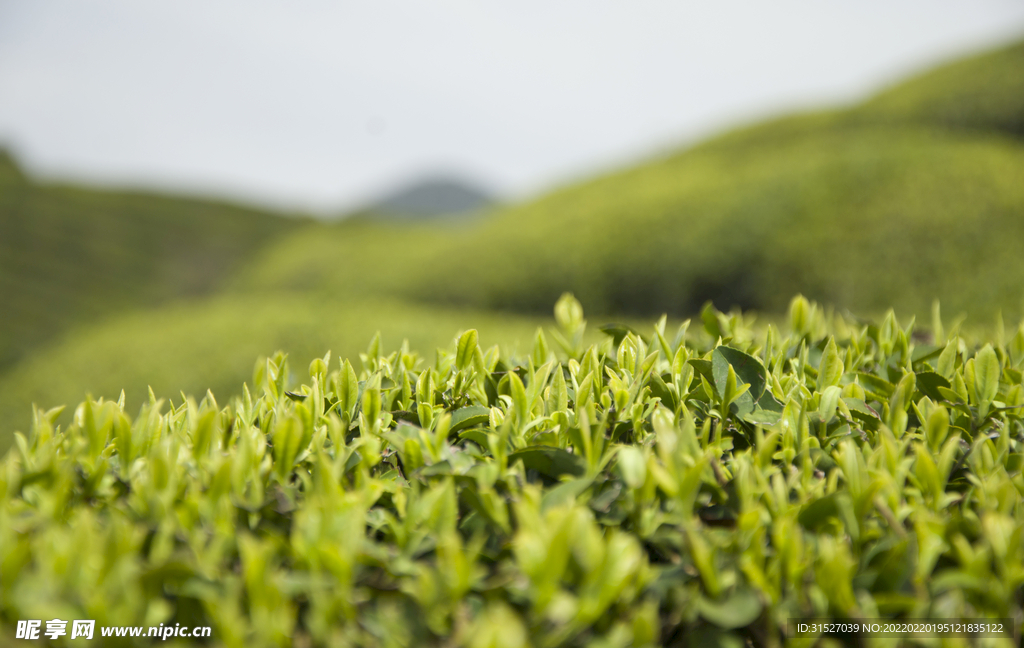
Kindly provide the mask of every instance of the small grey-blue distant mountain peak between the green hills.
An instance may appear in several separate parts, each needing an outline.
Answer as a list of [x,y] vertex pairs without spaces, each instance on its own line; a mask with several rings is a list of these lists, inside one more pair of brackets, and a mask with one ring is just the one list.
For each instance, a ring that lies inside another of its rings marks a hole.
[[432,217],[465,214],[489,207],[493,193],[454,176],[427,176],[404,185],[361,210],[392,216]]

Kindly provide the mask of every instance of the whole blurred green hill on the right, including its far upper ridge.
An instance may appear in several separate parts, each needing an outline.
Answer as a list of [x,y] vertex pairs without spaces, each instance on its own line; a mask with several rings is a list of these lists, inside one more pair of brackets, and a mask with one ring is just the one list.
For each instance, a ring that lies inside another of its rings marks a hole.
[[[845,111],[776,120],[446,229],[297,232],[249,287],[383,291],[506,310],[570,289],[600,312],[784,308],[803,291],[1019,313],[1024,45]],[[1017,121],[1015,121],[1017,120]],[[365,268],[375,268],[366,280]]]

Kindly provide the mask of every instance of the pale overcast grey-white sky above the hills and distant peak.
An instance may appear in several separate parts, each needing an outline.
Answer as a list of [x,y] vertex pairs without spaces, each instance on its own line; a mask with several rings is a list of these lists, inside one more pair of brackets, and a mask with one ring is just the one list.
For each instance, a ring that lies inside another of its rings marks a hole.
[[324,214],[520,200],[1021,37],[1020,0],[0,0],[0,145]]

